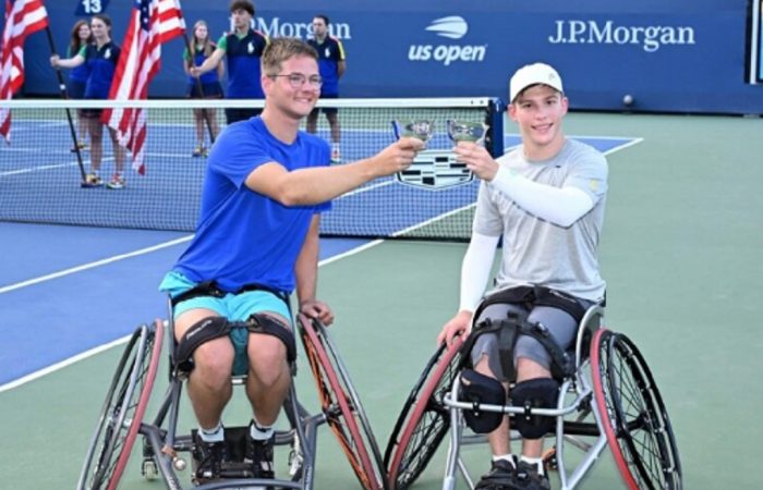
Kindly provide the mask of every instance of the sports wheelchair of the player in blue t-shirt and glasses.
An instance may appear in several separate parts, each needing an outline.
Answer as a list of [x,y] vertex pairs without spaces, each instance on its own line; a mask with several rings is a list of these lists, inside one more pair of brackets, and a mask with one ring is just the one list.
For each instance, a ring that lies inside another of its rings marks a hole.
[[[77,489],[117,488],[138,434],[143,437],[143,476],[146,479],[161,477],[168,489],[183,488],[178,473],[185,470],[187,463],[181,454],[193,454],[194,442],[191,434],[181,434],[178,430],[184,376],[175,367],[174,348],[169,350],[169,385],[156,416],[148,420],[144,418],[159,369],[165,335],[171,346],[175,345],[171,318],[172,315],[169,321],[155,320],[152,324],[138,327],[128,342],[98,417]],[[298,316],[295,327],[317,385],[320,411],[307,413],[300,404],[292,382],[283,404],[289,428],[278,429],[275,441],[276,464],[284,460],[279,454],[284,455],[288,450],[287,467],[276,468],[275,480],[253,478],[249,469],[251,464],[246,464],[243,456],[247,428],[226,427],[229,458],[223,462],[221,478],[196,488],[312,489],[317,427],[323,424],[331,428],[364,489],[388,487],[367,417],[326,327],[304,315]],[[292,379],[295,371],[295,363],[292,363]],[[233,384],[243,384],[244,381],[245,377],[232,379]]]

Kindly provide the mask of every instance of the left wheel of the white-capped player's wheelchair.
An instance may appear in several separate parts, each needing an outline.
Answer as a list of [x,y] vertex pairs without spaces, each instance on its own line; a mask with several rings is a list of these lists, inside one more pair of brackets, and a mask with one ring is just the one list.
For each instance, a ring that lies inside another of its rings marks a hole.
[[450,428],[450,414],[443,396],[461,368],[462,338],[443,344],[426,364],[409,394],[387,443],[384,464],[390,485],[403,490],[424,471]]

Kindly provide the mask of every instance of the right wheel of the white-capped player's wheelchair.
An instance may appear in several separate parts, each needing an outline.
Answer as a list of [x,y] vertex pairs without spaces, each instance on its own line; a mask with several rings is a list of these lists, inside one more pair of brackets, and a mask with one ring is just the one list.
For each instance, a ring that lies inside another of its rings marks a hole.
[[594,395],[628,488],[681,489],[681,464],[665,404],[646,362],[626,335],[598,330],[591,347]]

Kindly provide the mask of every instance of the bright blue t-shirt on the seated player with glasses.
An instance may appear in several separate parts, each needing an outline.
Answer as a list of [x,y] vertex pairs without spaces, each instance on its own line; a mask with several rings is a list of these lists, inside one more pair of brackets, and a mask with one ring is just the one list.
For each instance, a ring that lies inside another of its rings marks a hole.
[[329,146],[304,132],[287,145],[261,118],[229,125],[209,154],[196,234],[174,271],[194,282],[215,280],[229,292],[253,283],[293,291],[311,220],[331,203],[287,207],[246,187],[252,171],[271,161],[289,171],[325,167]]

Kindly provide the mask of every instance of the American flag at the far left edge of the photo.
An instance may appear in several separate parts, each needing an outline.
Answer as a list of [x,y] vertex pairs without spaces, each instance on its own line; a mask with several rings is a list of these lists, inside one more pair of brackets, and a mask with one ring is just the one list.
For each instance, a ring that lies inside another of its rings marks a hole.
[[[43,0],[5,0],[5,27],[0,51],[0,100],[10,100],[24,84],[24,40],[48,26]],[[0,134],[11,137],[11,110],[0,108]]]

